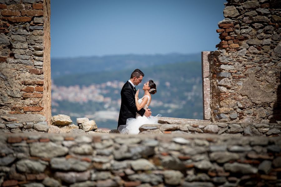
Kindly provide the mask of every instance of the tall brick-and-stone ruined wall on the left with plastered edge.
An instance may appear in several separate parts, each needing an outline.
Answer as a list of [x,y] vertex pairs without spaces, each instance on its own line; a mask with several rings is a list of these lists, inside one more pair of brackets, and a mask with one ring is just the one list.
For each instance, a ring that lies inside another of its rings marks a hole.
[[50,1],[0,0],[0,11],[0,114],[50,121]]

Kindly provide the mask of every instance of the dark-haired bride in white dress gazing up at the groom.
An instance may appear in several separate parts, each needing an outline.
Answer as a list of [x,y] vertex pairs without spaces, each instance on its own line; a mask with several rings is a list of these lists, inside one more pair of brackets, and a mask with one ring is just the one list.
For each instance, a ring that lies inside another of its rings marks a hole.
[[[156,84],[153,80],[149,80],[147,83],[143,84],[142,89],[144,90],[144,96],[142,98],[138,98],[140,90],[136,92],[135,95],[135,102],[137,110],[141,108],[147,109],[151,102],[151,94],[155,94]],[[157,115],[157,117],[159,114]],[[157,117],[146,117],[145,115],[141,116],[140,114],[136,113],[136,118],[129,118],[127,119],[126,125],[120,125],[118,130],[120,134],[138,134],[140,132],[139,128],[143,124],[155,124],[158,122]]]

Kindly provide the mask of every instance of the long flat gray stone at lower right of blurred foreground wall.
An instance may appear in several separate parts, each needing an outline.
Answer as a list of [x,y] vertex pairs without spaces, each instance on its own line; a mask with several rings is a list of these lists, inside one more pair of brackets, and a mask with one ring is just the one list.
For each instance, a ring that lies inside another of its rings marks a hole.
[[257,168],[249,164],[240,164],[237,162],[224,164],[224,169],[226,171],[231,171],[233,173],[242,173],[242,174],[255,174],[258,172]]

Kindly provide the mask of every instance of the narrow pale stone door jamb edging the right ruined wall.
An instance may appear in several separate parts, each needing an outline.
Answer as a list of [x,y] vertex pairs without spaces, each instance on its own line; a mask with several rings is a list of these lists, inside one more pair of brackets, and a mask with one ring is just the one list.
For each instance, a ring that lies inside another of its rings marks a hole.
[[201,52],[201,62],[202,62],[202,91],[203,91],[203,119],[211,119],[211,108],[210,108],[210,63],[208,60],[208,55],[210,51]]

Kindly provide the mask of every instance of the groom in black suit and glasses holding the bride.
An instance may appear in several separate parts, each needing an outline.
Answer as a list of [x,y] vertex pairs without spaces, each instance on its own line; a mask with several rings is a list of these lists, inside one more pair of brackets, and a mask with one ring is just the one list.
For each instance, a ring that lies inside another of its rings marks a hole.
[[145,115],[146,117],[151,115],[150,109],[145,110],[142,108],[141,110],[137,110],[136,108],[135,86],[141,83],[143,77],[144,73],[141,70],[136,69],[131,74],[130,80],[128,80],[121,89],[121,107],[118,119],[118,127],[120,125],[126,125],[128,118],[135,118],[136,113],[139,113],[141,116]]

